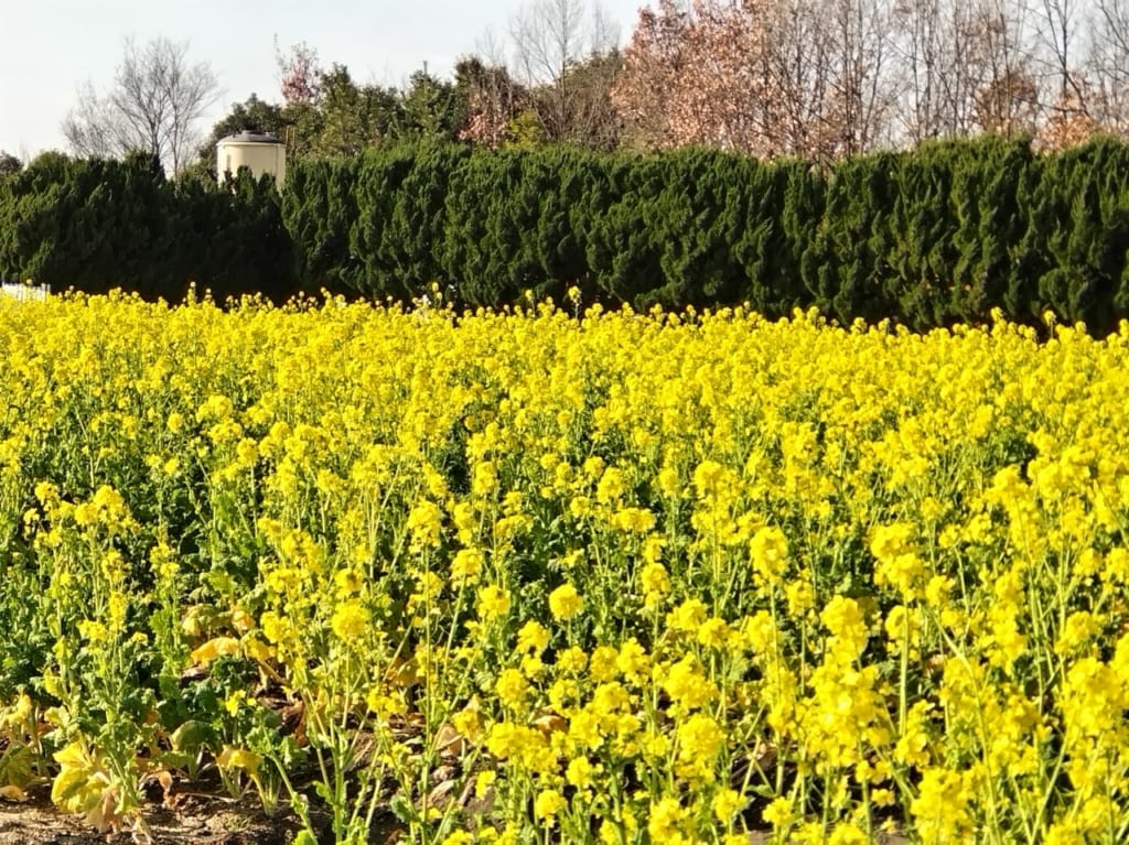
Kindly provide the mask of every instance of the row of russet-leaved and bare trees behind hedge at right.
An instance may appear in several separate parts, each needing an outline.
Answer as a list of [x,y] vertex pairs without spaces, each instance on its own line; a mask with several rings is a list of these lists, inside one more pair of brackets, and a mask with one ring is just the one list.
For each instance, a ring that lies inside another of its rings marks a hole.
[[826,160],[999,134],[1058,150],[1127,125],[1123,6],[658,0],[612,100],[644,149]]

